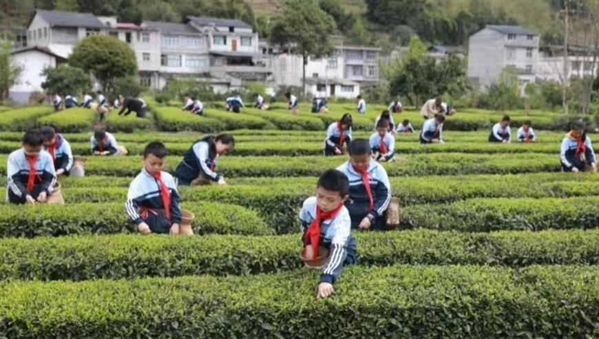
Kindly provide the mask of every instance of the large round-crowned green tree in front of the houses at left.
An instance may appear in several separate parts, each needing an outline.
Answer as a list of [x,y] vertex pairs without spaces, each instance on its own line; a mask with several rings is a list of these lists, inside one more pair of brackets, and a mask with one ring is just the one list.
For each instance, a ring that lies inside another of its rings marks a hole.
[[77,43],[69,63],[94,75],[105,92],[112,91],[115,79],[137,74],[133,50],[127,43],[106,35],[94,35]]

